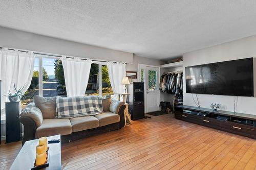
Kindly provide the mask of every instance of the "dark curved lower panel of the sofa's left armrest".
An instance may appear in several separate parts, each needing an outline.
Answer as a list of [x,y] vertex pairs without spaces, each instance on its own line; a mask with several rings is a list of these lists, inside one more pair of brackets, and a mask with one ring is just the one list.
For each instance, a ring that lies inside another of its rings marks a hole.
[[19,122],[24,126],[24,135],[22,140],[22,145],[24,145],[27,140],[35,139],[36,124],[34,120],[28,116],[20,117]]

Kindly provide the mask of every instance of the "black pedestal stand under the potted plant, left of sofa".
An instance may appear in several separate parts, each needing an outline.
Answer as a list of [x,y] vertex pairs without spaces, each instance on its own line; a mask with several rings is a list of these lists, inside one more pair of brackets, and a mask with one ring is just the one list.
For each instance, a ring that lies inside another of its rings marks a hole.
[[6,143],[21,139],[21,124],[19,122],[19,102],[5,103]]

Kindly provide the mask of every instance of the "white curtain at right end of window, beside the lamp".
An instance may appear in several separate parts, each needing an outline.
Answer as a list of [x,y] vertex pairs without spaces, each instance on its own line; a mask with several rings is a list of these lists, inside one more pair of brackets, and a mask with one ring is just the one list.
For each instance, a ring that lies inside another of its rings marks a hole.
[[124,93],[124,85],[122,79],[125,77],[125,64],[107,62],[111,87],[115,93],[115,98],[118,99],[118,94]]

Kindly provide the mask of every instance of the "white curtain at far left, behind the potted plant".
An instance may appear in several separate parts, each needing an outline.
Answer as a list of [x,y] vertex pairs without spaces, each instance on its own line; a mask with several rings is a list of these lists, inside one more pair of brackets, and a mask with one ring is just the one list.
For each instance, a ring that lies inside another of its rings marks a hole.
[[5,108],[5,102],[8,97],[3,96],[11,91],[15,92],[16,88],[23,87],[25,93],[30,86],[34,70],[34,56],[32,52],[12,51],[7,48],[0,50],[0,80],[2,80],[2,107]]

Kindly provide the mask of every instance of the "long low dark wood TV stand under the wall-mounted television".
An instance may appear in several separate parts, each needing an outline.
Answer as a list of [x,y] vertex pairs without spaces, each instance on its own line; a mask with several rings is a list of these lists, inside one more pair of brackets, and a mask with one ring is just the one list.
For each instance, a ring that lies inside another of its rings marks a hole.
[[[196,113],[207,115],[196,115]],[[217,119],[219,115],[227,116],[229,120]],[[193,106],[175,106],[175,118],[256,139],[256,115],[214,111]]]

